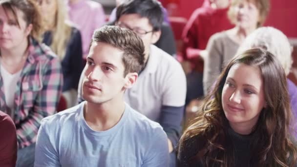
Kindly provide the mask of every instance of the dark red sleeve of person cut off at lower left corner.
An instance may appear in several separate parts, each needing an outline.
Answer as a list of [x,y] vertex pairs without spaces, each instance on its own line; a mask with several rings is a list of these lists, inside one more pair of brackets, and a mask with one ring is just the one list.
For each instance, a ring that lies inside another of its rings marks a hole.
[[17,161],[17,132],[10,116],[0,111],[0,167],[15,167]]

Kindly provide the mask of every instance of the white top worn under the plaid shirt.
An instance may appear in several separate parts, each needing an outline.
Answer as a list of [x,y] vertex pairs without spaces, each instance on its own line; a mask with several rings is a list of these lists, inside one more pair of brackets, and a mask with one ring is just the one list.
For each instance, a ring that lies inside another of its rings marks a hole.
[[5,103],[13,111],[15,90],[20,79],[21,70],[15,74],[10,74],[2,65],[0,65],[0,74],[3,79]]

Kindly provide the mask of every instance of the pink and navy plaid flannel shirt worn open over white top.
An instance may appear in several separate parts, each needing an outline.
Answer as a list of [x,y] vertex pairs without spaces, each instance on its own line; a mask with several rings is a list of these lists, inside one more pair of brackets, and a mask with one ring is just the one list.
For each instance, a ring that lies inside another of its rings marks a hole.
[[[36,142],[42,118],[56,112],[63,85],[61,63],[45,44],[30,39],[29,55],[21,71],[14,98],[14,123],[19,148]],[[0,110],[9,112],[5,104],[0,76]]]

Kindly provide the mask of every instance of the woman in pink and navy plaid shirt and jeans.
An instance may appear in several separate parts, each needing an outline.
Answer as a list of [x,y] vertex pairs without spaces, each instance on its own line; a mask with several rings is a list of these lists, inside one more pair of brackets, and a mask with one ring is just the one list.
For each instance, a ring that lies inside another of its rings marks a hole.
[[61,63],[38,42],[37,9],[31,0],[0,0],[0,110],[17,128],[17,167],[33,166],[40,122],[55,113],[62,92]]

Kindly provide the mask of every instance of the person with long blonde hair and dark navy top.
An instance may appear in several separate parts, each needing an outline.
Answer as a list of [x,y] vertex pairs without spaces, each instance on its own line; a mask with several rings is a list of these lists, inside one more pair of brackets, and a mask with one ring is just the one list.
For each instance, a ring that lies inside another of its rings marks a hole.
[[63,96],[67,107],[76,104],[77,88],[83,70],[80,31],[67,21],[64,0],[36,0],[42,11],[46,32],[42,42],[50,46],[62,63]]

